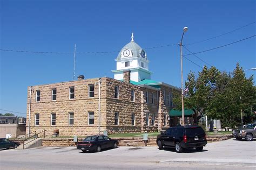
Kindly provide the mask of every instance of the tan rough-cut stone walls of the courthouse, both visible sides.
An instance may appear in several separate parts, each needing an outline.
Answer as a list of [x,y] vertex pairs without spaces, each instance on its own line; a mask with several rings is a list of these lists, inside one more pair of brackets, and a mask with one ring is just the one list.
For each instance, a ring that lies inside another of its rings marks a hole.
[[[94,97],[90,98],[89,85],[91,84],[94,84]],[[169,91],[172,93],[174,89],[162,85],[158,88],[136,86],[109,77],[102,77],[101,83],[99,83],[99,79],[81,79],[33,86],[31,92],[30,121],[30,87],[28,87],[27,133],[30,122],[30,132],[46,130],[46,136],[51,136],[55,129],[59,129],[59,136],[97,134],[99,123],[99,84],[100,133],[103,133],[103,131],[107,131],[109,134],[157,131],[158,121],[159,130],[163,127],[169,127],[168,117],[169,111],[172,108],[171,101],[169,101]],[[118,86],[118,98],[115,98],[114,93],[116,86]],[[70,87],[75,87],[74,99],[69,98]],[[52,101],[52,89],[57,90],[56,101]],[[36,102],[36,90],[40,90],[39,102]],[[134,101],[131,100],[131,90],[134,90]],[[73,125],[69,125],[70,112],[74,114]],[[94,112],[94,124],[92,125],[89,125],[89,112]],[[119,115],[118,125],[115,125],[116,112]],[[56,114],[56,125],[51,125],[52,113]],[[36,114],[39,114],[39,125],[35,123]],[[134,125],[132,125],[132,114],[135,116]]]

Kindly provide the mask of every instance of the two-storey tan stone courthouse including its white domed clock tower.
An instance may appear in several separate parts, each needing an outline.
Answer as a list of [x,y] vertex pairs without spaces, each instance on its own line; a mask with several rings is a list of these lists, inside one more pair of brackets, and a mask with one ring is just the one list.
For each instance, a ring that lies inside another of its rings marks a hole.
[[172,94],[180,89],[151,80],[149,60],[133,40],[117,56],[114,79],[99,77],[28,87],[27,133],[85,136],[153,132],[172,126]]

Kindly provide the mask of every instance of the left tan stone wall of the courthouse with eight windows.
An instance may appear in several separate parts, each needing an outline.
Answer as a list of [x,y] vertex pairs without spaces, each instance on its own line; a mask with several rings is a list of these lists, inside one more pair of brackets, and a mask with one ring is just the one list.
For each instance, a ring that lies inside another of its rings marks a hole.
[[[30,132],[46,130],[46,136],[51,136],[53,130],[59,129],[60,136],[83,136],[98,132],[98,80],[87,79],[55,84],[34,86],[31,94]],[[106,129],[106,79],[102,78],[100,89],[100,117]],[[89,84],[95,84],[95,96],[89,98]],[[69,87],[75,87],[75,99],[69,99]],[[51,89],[57,89],[57,100],[51,100]],[[40,101],[36,102],[36,90],[41,91]],[[28,88],[28,94],[30,93]],[[29,108],[29,95],[28,95]],[[28,109],[29,111],[29,109]],[[74,123],[69,125],[69,112],[74,114]],[[88,112],[94,112],[94,124],[89,125]],[[56,114],[56,125],[51,125],[51,114]],[[35,114],[39,114],[39,125],[35,125]],[[29,112],[27,113],[26,132],[28,133]]]

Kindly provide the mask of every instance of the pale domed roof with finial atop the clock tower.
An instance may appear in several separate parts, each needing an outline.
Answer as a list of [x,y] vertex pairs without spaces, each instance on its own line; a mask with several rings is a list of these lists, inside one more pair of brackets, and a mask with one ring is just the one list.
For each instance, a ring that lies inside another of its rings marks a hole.
[[142,56],[141,53],[143,51],[142,47],[140,47],[136,42],[134,42],[133,40],[133,33],[132,33],[132,37],[131,37],[131,42],[129,42],[128,44],[126,44],[121,51],[118,53],[117,55],[117,60],[120,60],[122,58],[122,54],[124,52],[125,49],[129,49],[132,53],[132,57],[140,57]]

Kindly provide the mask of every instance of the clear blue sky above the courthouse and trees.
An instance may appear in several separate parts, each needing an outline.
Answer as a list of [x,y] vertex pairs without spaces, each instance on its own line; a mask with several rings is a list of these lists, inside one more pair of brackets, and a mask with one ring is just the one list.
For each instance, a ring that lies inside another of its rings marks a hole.
[[[204,40],[255,22],[255,1],[1,1],[1,49],[41,52],[119,51],[134,41],[142,48]],[[186,46],[192,52],[255,35],[255,23],[224,36]],[[184,55],[189,54],[183,49]],[[180,87],[179,46],[146,49],[152,80]],[[76,55],[76,76],[113,77],[118,52]],[[0,51],[0,109],[26,113],[28,86],[71,81],[73,54]],[[256,67],[255,37],[197,54],[226,72],[237,62]],[[199,66],[205,63],[187,56]],[[200,67],[184,59],[184,79]],[[246,76],[253,71],[246,71]],[[6,111],[0,110],[1,113]],[[18,116],[25,116],[17,114]]]

